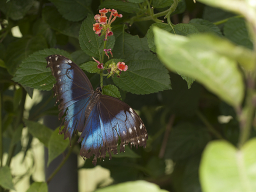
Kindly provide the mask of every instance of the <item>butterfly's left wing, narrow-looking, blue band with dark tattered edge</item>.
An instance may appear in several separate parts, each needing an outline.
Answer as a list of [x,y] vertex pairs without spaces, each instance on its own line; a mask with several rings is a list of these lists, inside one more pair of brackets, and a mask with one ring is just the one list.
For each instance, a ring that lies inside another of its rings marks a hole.
[[57,81],[53,88],[59,102],[61,125],[64,123],[64,137],[71,139],[75,130],[83,130],[85,110],[94,91],[85,73],[70,59],[50,55],[46,60]]

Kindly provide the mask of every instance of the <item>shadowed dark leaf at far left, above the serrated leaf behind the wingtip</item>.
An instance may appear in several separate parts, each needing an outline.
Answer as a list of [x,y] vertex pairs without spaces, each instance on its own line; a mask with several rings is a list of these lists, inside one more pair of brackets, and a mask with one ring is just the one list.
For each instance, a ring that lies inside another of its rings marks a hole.
[[6,55],[6,68],[14,75],[20,63],[35,51],[47,48],[43,36],[24,37],[8,45]]

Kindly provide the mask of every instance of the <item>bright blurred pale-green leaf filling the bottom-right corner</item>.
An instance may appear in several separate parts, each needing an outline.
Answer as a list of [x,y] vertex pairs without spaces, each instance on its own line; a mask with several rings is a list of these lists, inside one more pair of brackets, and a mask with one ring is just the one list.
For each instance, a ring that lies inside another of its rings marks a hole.
[[255,138],[248,141],[240,150],[226,141],[209,143],[204,150],[199,170],[203,191],[254,191],[255,148]]

